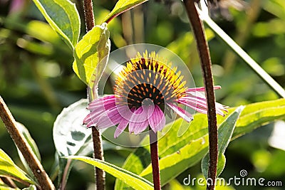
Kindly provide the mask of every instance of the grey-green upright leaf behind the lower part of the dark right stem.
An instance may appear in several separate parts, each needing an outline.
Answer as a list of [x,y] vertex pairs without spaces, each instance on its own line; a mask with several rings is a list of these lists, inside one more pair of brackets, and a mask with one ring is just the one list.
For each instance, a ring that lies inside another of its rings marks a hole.
[[[237,119],[244,110],[243,106],[237,107],[237,110],[234,110],[231,115],[227,117],[224,122],[219,126],[218,130],[218,164],[217,164],[217,176],[222,173],[224,166],[226,164],[226,157],[224,152],[229,145],[229,141],[232,138],[232,133],[234,132],[234,127],[236,126]],[[205,179],[208,178],[208,168],[209,168],[209,152],[203,157],[201,162],[202,174]]]

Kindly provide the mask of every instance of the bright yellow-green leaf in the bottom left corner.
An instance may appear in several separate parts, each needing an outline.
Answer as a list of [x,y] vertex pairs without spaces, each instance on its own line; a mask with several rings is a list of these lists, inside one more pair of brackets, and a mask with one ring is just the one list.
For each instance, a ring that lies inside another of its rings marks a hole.
[[29,184],[35,184],[23,170],[14,164],[13,160],[2,149],[0,149],[0,176],[13,176]]

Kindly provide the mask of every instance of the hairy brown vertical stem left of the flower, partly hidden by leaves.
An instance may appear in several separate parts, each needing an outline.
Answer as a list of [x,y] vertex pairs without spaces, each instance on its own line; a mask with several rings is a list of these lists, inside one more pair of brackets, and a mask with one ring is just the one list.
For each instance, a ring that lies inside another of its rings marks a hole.
[[[92,0],[83,0],[83,8],[86,20],[86,31],[88,32],[95,26]],[[94,96],[96,95],[98,95],[98,93],[94,93]],[[93,138],[93,157],[95,159],[104,160],[102,137],[99,130],[97,130],[95,127],[92,127],[92,138]],[[98,190],[105,189],[105,171],[99,169],[98,167],[95,167],[95,175],[96,175],[96,188]]]

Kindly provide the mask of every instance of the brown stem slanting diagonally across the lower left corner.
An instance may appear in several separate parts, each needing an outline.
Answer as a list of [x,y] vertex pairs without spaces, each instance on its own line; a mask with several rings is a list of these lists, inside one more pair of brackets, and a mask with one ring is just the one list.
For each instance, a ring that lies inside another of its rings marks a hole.
[[33,174],[38,180],[38,184],[41,186],[41,189],[55,189],[53,183],[51,182],[51,179],[49,179],[48,174],[46,174],[46,171],[43,169],[43,166],[38,161],[36,155],[33,153],[33,150],[26,142],[26,139],[24,138],[23,134],[21,134],[21,132],[18,130],[16,121],[14,120],[14,117],[11,115],[9,108],[7,107],[1,96],[0,117],[1,120],[4,122],[11,138],[14,140],[14,143],[23,154],[23,157],[26,159],[26,162],[31,168],[31,171],[33,171]]

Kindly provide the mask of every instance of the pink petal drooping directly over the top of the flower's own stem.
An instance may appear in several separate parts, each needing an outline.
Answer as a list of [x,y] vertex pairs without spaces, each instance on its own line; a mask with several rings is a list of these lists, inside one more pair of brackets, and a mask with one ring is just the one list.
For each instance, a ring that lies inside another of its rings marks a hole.
[[149,110],[147,114],[148,122],[154,132],[161,131],[165,127],[165,115],[158,105],[155,105],[153,112]]

